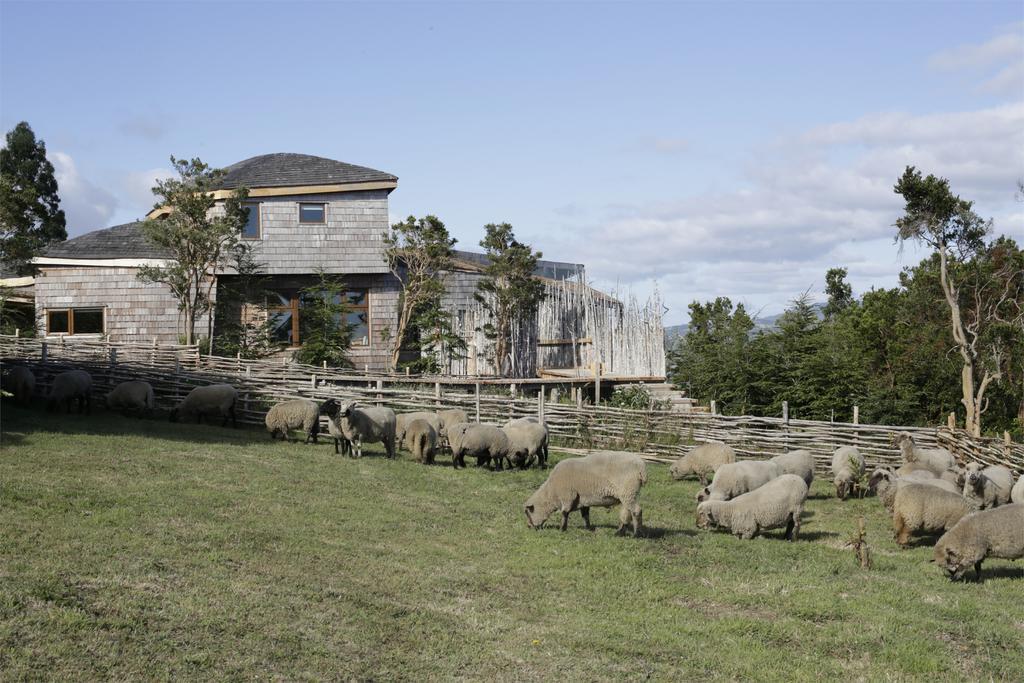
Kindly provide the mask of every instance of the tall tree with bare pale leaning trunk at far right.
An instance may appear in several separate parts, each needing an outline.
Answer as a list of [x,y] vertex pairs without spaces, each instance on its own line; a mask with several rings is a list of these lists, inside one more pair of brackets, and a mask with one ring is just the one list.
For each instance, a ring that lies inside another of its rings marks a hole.
[[991,221],[978,216],[972,202],[953,195],[948,180],[934,175],[923,177],[921,171],[908,166],[893,189],[905,202],[903,215],[896,220],[897,240],[922,242],[938,255],[939,285],[949,307],[953,344],[962,360],[965,426],[979,436],[986,409],[985,391],[1002,376],[1002,347],[997,337],[988,334],[988,328],[1000,323],[998,311],[1006,308],[1008,299],[1019,296],[1014,292],[1015,278],[1009,272],[993,273],[1007,287],[992,287],[988,278],[979,278],[979,273],[972,278],[970,268],[963,267],[984,251]]

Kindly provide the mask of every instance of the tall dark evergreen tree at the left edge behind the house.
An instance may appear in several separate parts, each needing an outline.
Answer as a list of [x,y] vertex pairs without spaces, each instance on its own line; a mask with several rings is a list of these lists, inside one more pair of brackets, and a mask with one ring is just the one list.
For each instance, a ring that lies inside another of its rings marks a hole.
[[48,244],[68,239],[59,207],[46,143],[23,121],[0,150],[0,264],[31,274],[33,257]]

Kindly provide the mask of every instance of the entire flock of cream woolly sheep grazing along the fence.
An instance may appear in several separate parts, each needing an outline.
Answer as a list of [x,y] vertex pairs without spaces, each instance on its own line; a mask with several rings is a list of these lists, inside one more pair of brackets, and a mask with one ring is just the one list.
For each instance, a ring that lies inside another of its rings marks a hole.
[[[8,372],[5,388],[15,400],[28,402],[35,391],[35,377],[25,367]],[[79,412],[91,405],[92,378],[82,370],[53,378],[48,408],[77,402]],[[202,422],[219,417],[222,426],[236,424],[238,391],[228,384],[193,389],[170,414],[170,419],[196,418]],[[142,381],[116,386],[106,396],[111,410],[147,414],[155,407],[153,387]],[[470,423],[465,411],[445,410],[396,415],[389,408],[360,405],[330,398],[322,404],[299,398],[273,405],[266,414],[271,438],[291,439],[301,430],[305,442],[316,442],[321,417],[327,419],[335,453],[358,458],[364,443],[379,442],[388,458],[404,447],[417,462],[431,464],[447,447],[456,468],[466,466],[466,456],[477,466],[494,470],[508,467],[547,467],[548,429],[536,418],[510,420],[504,426]],[[1016,484],[1001,465],[969,463],[961,467],[944,449],[922,449],[908,433],[896,436],[903,465],[879,468],[870,476],[864,457],[853,446],[837,449],[831,459],[836,496],[845,500],[867,492],[878,495],[892,514],[896,542],[905,547],[911,535],[938,533],[934,560],[951,580],[962,579],[972,567],[978,580],[986,557],[1024,557],[1024,475]],[[701,529],[728,529],[740,539],[753,539],[767,529],[783,528],[796,540],[811,482],[814,458],[808,451],[794,451],[765,461],[737,461],[724,443],[692,449],[670,468],[674,479],[696,476],[702,488],[696,496],[696,525]],[[711,479],[709,483],[709,479]],[[565,530],[571,512],[580,511],[588,529],[590,508],[618,505],[622,533],[634,536],[643,525],[640,488],[647,481],[646,464],[632,453],[601,451],[559,462],[547,480],[526,501],[530,527],[540,528],[557,510]]]

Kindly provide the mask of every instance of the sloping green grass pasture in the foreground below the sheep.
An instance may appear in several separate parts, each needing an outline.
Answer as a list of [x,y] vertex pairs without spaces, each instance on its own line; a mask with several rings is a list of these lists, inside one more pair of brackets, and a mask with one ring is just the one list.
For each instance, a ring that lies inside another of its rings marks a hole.
[[658,465],[645,538],[534,531],[543,471],[2,410],[4,680],[1024,680],[1020,563],[950,584],[824,482],[795,544],[698,531]]

